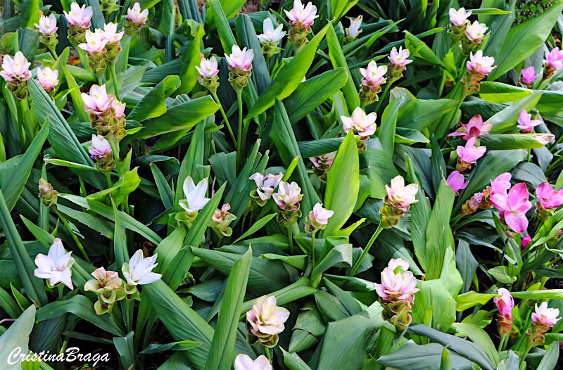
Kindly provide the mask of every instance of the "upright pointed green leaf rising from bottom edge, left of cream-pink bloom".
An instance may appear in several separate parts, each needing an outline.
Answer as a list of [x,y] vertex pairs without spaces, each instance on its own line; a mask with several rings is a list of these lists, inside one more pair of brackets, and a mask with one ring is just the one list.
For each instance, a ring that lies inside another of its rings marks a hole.
[[246,292],[251,257],[252,248],[248,247],[248,252],[234,263],[229,274],[205,370],[231,369],[235,356],[234,342],[239,326],[239,312]]

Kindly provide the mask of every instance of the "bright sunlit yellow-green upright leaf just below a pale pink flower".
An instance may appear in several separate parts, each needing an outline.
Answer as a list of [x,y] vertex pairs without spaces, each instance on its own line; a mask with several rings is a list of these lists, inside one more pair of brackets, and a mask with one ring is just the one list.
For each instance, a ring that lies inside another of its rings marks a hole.
[[348,221],[360,190],[360,162],[353,132],[348,132],[342,141],[333,165],[327,172],[327,189],[324,193],[324,208],[333,210],[323,236],[330,236]]

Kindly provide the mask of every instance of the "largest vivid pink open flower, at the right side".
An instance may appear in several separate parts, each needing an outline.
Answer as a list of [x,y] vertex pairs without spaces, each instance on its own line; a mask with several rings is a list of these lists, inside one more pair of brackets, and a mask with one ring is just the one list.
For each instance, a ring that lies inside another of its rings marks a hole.
[[512,186],[508,194],[493,193],[491,202],[500,210],[500,217],[505,220],[510,229],[522,233],[528,228],[526,212],[532,204],[529,200],[528,188],[523,182]]

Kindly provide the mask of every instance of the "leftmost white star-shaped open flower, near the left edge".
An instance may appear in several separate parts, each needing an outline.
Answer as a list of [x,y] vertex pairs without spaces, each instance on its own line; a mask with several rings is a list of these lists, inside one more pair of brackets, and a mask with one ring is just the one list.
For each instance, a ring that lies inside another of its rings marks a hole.
[[63,248],[61,239],[56,238],[51,248],[49,248],[47,255],[39,253],[37,257],[35,257],[37,269],[35,269],[34,275],[41,279],[49,279],[47,281],[49,286],[63,283],[72,291],[74,287],[70,279],[72,275],[70,267],[75,263],[75,259],[70,257],[71,253],[72,252],[65,254],[65,248]]

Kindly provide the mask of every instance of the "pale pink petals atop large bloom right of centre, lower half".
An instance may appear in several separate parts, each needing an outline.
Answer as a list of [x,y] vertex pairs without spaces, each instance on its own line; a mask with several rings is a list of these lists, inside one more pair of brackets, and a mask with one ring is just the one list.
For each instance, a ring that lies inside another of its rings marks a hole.
[[[414,295],[420,289],[417,288],[417,278],[410,271],[398,272],[397,267],[403,269],[405,261],[400,264],[391,264],[381,272],[381,284],[374,283],[377,295],[384,300],[408,302],[415,299]],[[408,263],[406,264],[408,268]]]

